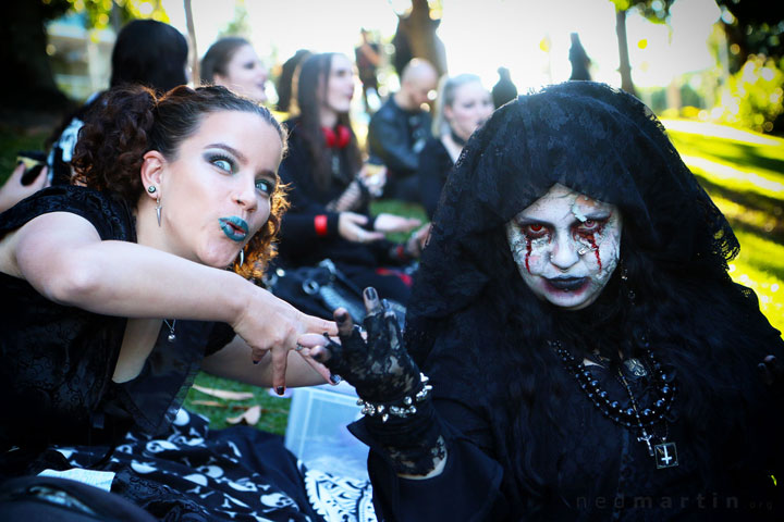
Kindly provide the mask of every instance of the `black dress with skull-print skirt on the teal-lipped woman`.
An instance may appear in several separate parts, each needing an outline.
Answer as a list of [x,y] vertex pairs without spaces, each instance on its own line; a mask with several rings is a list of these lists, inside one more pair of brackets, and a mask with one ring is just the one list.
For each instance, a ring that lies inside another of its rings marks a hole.
[[[71,186],[1,214],[0,234],[48,212],[85,217],[101,239],[135,241],[123,203]],[[164,520],[373,520],[367,484],[305,469],[280,436],[210,431],[181,409],[201,359],[233,338],[229,325],[177,321],[174,340],[161,328],[140,374],[118,384],[125,319],[54,303],[7,274],[0,287],[0,476],[109,472],[113,493]]]

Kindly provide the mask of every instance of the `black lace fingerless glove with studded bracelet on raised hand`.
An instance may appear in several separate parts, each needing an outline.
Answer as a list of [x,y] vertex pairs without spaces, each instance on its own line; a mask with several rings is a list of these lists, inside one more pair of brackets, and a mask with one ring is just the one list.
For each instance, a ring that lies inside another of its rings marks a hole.
[[379,307],[364,325],[367,341],[356,326],[347,333],[340,328],[340,345],[328,341],[327,366],[356,388],[365,426],[385,449],[395,472],[426,475],[446,456],[431,386],[405,350],[394,312]]

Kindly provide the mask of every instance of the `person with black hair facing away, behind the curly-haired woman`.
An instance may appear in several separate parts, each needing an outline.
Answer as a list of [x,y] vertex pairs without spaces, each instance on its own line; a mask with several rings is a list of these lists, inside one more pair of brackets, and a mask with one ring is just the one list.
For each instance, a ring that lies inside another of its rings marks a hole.
[[[144,85],[166,92],[187,84],[187,53],[185,37],[171,25],[155,20],[133,20],[123,26],[114,42],[109,86]],[[93,95],[52,133],[47,160],[52,184],[71,183],[71,159],[78,132],[99,99],[100,92]]]

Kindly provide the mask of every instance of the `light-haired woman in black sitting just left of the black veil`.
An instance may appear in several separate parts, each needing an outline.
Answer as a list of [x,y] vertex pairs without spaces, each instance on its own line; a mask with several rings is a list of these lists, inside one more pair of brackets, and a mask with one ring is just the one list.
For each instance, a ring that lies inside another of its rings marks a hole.
[[419,194],[432,220],[452,166],[474,130],[492,114],[490,92],[475,74],[444,77],[436,100],[433,137],[419,152]]

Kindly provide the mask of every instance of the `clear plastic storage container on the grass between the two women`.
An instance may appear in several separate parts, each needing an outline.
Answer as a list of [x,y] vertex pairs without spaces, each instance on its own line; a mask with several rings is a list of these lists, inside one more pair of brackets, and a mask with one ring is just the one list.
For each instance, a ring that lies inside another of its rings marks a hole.
[[345,382],[293,389],[286,448],[310,469],[367,480],[368,447],[346,428],[362,418],[356,401]]

